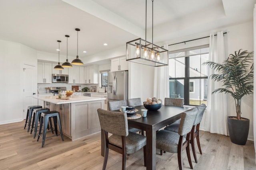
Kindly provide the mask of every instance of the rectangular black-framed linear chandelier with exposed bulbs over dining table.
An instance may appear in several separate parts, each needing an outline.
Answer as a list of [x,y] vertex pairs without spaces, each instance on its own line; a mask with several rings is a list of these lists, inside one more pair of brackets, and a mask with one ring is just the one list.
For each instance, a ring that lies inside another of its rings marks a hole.
[[[153,44],[153,2],[154,0],[152,0],[152,43],[141,38],[127,42],[126,61],[145,64],[149,66],[167,66],[169,61],[168,50]],[[147,0],[145,31],[147,33]]]

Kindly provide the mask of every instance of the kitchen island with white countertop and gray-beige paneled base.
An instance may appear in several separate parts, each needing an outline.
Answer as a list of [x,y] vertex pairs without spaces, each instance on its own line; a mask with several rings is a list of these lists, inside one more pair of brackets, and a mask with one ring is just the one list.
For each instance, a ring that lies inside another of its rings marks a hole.
[[73,95],[66,100],[58,96],[34,97],[45,102],[50,111],[60,112],[62,132],[72,141],[100,132],[98,108],[104,109],[105,98]]

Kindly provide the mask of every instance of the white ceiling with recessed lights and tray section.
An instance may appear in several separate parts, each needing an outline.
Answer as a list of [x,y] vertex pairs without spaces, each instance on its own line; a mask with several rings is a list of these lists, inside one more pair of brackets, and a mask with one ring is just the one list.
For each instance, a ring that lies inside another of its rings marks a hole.
[[[0,0],[0,39],[49,53],[90,56],[145,39],[145,0]],[[154,42],[168,43],[252,21],[256,0],[154,0]],[[152,41],[152,0],[147,0],[147,40]],[[103,43],[108,43],[104,46]],[[158,44],[162,45],[162,44]],[[87,51],[83,53],[82,51]],[[72,60],[72,59],[70,59]]]

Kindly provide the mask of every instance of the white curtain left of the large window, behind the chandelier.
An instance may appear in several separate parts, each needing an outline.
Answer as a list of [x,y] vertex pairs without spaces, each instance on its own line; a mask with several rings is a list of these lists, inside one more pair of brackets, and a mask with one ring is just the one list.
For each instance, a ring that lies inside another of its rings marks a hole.
[[[168,44],[164,45],[168,50]],[[157,99],[169,98],[169,66],[155,67],[154,72],[154,97]]]

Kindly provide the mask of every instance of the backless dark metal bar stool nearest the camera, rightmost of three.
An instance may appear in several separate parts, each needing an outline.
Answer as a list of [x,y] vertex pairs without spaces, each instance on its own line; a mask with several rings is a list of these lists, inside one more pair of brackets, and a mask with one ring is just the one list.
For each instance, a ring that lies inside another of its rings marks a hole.
[[[39,129],[39,134],[38,134],[38,138],[37,141],[39,140],[39,137],[41,135],[41,131],[42,131],[42,126],[44,124],[44,130],[43,130],[43,136],[42,136],[42,147],[44,147],[44,141],[46,139],[46,130],[47,130],[47,125],[48,125],[48,121],[53,117],[54,120],[54,129],[55,129],[55,133],[56,136],[58,136],[58,127],[57,127],[57,120],[58,120],[58,124],[59,124],[59,128],[60,128],[60,135],[62,138],[62,141],[64,141],[63,138],[63,134],[62,134],[62,127],[61,127],[61,123],[60,123],[60,113],[58,111],[47,111],[47,112],[42,112],[41,113],[41,121],[40,121],[40,129]],[[50,121],[51,123],[51,121]],[[51,136],[52,137],[52,136]]]

